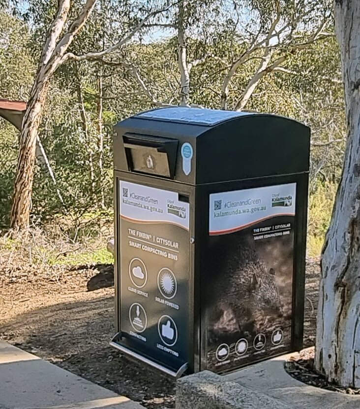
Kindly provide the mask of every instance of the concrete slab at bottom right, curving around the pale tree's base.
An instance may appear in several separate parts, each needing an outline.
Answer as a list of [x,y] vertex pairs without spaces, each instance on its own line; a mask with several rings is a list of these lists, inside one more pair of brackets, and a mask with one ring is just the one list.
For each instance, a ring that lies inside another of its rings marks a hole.
[[287,354],[225,375],[224,380],[265,393],[294,409],[360,409],[359,395],[346,395],[306,385],[284,369]]

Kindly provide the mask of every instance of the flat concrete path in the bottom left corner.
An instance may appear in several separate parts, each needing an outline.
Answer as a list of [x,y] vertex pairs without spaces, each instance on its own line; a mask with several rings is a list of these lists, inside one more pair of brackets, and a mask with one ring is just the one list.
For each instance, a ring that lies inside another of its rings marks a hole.
[[0,341],[0,409],[144,409]]

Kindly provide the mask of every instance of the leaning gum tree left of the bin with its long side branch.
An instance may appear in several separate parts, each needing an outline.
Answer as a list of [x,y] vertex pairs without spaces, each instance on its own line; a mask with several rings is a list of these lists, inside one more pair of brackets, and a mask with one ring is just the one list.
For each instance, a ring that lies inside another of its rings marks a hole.
[[[114,21],[113,44],[101,51],[74,54],[69,52],[69,47],[87,24],[98,0],[59,0],[51,2],[50,7],[55,8],[55,15],[50,19],[46,36],[38,59],[38,66],[27,110],[23,119],[20,134],[19,155],[14,182],[10,226],[14,229],[27,228],[30,223],[32,183],[35,166],[36,140],[41,124],[44,107],[49,90],[50,81],[56,70],[65,61],[75,60],[101,60],[105,55],[117,53],[121,47],[129,43],[151,19],[167,11],[171,7],[168,1],[151,1],[149,7],[144,1],[118,1],[120,11],[127,8],[130,24],[127,29],[121,27],[121,15]],[[57,4],[57,6],[56,6]],[[35,4],[36,5],[36,4]],[[38,7],[48,6],[39,1]],[[36,9],[36,7],[35,7]],[[137,13],[136,13],[137,12]],[[139,18],[136,14],[143,16]],[[120,37],[117,33],[120,32]]]

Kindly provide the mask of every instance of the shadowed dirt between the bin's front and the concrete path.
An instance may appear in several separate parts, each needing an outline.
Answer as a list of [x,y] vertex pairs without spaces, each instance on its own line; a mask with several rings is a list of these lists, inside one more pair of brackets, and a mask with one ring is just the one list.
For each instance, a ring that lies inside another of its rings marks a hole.
[[114,298],[61,302],[1,326],[5,341],[149,408],[173,405],[174,382],[109,346]]

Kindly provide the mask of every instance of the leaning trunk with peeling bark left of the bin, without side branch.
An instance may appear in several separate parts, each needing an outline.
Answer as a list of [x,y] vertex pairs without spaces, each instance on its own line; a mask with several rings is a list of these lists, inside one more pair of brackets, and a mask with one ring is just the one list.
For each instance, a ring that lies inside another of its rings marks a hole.
[[71,4],[70,0],[59,0],[56,16],[48,29],[20,135],[10,215],[10,227],[14,229],[25,229],[30,224],[36,140],[46,103],[49,82],[56,69],[63,63],[66,50],[74,37],[89,18],[95,2],[96,0],[87,0],[78,17],[61,36]]

